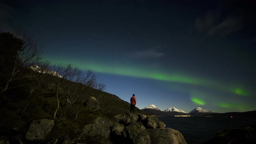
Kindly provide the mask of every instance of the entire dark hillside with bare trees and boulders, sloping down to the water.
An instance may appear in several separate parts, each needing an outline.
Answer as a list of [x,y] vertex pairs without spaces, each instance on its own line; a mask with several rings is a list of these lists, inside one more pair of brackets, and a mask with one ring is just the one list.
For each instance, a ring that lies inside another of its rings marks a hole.
[[37,45],[21,37],[0,33],[0,143],[149,143],[159,141],[161,128],[163,143],[186,144],[157,118],[138,108],[130,114],[130,104],[103,92],[91,70],[43,61]]

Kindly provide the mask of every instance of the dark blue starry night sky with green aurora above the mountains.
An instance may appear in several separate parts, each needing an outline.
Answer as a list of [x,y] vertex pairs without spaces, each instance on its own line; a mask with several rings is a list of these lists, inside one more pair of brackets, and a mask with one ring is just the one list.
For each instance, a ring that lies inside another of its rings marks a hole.
[[253,0],[0,1],[0,32],[27,32],[43,58],[92,69],[137,107],[256,110]]

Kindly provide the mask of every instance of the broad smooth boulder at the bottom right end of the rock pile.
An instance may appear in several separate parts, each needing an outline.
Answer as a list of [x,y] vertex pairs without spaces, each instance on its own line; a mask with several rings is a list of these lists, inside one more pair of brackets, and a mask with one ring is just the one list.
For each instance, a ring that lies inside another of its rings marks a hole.
[[183,135],[171,128],[146,129],[151,144],[187,144]]

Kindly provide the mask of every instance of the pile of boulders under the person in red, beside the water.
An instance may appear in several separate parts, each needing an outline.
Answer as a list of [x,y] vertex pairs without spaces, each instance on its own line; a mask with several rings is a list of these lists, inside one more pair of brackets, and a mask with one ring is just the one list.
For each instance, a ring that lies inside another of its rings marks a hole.
[[115,115],[114,119],[119,123],[112,128],[111,138],[115,143],[187,144],[179,131],[164,128],[165,124],[158,118],[125,113]]

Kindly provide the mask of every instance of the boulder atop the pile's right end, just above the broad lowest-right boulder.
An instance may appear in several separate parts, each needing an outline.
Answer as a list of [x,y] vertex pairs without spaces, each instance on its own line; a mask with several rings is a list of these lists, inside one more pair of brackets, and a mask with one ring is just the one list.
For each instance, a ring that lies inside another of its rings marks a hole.
[[141,121],[145,128],[164,128],[165,124],[155,117],[147,117]]

